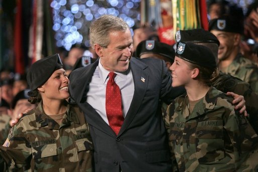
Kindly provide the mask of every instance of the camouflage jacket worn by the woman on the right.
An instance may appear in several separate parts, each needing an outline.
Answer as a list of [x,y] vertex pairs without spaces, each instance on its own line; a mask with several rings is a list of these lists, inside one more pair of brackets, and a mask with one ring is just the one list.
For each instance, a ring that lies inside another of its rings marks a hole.
[[190,114],[186,97],[176,98],[165,117],[179,171],[256,171],[258,136],[231,97],[211,87]]

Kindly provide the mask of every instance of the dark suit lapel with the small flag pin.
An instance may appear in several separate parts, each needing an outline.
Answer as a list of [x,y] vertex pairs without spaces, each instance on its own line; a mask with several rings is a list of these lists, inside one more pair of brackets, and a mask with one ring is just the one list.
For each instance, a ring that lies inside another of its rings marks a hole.
[[130,108],[128,109],[126,117],[117,136],[121,135],[135,118],[135,115],[144,99],[149,82],[149,73],[146,70],[148,66],[142,63],[140,60],[136,60],[135,58],[132,58],[130,63],[134,78],[135,92]]

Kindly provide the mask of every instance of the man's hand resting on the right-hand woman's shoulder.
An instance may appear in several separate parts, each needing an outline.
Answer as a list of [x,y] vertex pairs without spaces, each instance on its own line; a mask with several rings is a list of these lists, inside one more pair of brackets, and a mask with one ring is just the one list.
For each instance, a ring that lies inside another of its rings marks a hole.
[[232,96],[234,100],[232,101],[232,104],[235,106],[235,109],[240,109],[239,112],[244,114],[244,116],[248,116],[246,112],[246,107],[245,107],[245,100],[242,95],[235,94],[233,92],[227,92],[226,93],[229,96]]

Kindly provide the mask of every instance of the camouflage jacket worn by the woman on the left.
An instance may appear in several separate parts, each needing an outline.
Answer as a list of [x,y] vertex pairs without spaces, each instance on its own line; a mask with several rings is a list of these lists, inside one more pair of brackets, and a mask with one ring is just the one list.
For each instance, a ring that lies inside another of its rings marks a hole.
[[20,119],[0,147],[11,171],[93,171],[92,151],[89,127],[78,107],[67,105],[59,125],[41,103]]

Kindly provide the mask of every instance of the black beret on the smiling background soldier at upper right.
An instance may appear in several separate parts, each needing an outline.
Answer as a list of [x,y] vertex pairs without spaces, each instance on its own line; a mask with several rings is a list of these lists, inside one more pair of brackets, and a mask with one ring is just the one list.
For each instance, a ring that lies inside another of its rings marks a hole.
[[242,20],[222,16],[209,22],[209,31],[211,30],[243,34],[243,23]]

